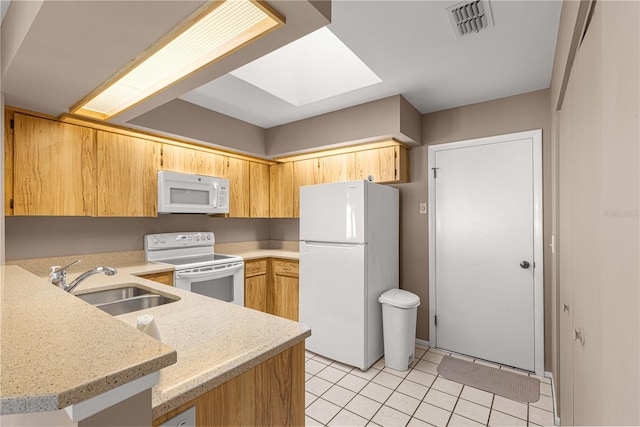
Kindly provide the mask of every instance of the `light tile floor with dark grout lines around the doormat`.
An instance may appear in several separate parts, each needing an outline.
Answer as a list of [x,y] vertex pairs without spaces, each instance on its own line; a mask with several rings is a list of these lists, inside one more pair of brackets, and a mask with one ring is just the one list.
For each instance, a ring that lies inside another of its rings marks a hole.
[[[548,378],[540,380],[540,400],[522,403],[438,375],[438,364],[450,353],[416,347],[412,367],[389,369],[380,359],[362,372],[306,352],[307,426],[552,426],[553,401]],[[473,360],[475,363],[527,372]]]

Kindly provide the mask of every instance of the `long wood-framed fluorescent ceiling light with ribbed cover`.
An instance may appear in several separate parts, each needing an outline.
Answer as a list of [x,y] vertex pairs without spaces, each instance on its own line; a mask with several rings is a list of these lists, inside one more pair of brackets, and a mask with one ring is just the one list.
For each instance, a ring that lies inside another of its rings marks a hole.
[[282,25],[260,1],[209,1],[70,110],[106,120]]

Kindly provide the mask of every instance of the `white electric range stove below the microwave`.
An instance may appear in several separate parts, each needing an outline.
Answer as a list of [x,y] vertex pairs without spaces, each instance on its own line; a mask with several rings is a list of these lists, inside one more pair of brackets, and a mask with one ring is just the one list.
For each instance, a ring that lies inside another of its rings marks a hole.
[[144,236],[145,259],[175,266],[176,288],[244,305],[244,260],[217,254],[214,245],[212,232]]

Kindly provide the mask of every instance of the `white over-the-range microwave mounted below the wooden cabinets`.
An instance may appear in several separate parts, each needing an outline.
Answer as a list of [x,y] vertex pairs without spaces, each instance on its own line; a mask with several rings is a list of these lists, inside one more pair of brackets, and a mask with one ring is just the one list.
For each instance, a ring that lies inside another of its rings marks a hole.
[[158,172],[158,213],[229,213],[229,180],[178,172]]

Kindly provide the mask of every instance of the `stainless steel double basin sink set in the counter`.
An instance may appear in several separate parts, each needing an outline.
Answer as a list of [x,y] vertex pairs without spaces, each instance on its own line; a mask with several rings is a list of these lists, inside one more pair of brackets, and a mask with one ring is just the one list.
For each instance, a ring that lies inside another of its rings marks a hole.
[[141,288],[136,283],[124,283],[118,288],[87,292],[76,296],[113,316],[169,304],[180,299],[160,295]]

